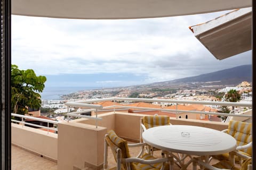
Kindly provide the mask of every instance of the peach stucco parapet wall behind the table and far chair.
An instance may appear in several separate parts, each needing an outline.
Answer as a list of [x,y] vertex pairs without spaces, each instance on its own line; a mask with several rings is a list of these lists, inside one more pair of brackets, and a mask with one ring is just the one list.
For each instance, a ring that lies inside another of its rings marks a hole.
[[[122,138],[139,142],[140,139],[140,118],[147,116],[146,114],[135,113],[123,113],[123,112],[109,112],[98,115],[102,117],[101,121],[98,121],[98,125],[107,128],[107,130],[115,130],[115,132]],[[95,120],[89,120],[86,118],[79,118],[74,121],[70,121],[76,124],[92,125],[95,128]],[[173,125],[193,125],[202,126],[205,128],[211,128],[215,130],[224,130],[228,128],[228,123],[211,122],[202,120],[190,120],[185,118],[170,117],[170,122]],[[131,126],[132,125],[132,126]],[[84,126],[87,127],[87,126]]]

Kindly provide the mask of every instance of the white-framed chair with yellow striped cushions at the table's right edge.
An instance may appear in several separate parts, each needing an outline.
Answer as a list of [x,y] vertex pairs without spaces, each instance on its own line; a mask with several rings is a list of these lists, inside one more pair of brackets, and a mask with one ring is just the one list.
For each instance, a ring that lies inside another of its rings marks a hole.
[[230,153],[213,155],[213,158],[230,160],[233,165],[239,162],[242,165],[243,159],[252,157],[252,123],[229,121],[228,129],[222,132],[230,134],[237,140],[237,148]]

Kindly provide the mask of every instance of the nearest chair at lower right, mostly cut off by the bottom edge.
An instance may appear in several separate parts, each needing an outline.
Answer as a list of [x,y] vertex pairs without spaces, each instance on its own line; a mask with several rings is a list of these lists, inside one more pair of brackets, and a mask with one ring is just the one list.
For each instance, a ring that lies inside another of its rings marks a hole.
[[223,160],[217,164],[210,165],[203,162],[200,158],[193,158],[193,170],[197,170],[197,165],[200,166],[200,169],[209,169],[209,170],[252,170],[252,158],[244,159],[241,168],[235,167],[231,162]]

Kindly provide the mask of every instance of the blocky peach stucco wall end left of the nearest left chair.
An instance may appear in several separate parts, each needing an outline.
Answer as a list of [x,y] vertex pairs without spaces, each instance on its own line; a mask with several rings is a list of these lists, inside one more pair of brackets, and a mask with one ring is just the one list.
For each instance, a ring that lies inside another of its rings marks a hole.
[[78,120],[58,124],[58,169],[101,169],[107,128]]

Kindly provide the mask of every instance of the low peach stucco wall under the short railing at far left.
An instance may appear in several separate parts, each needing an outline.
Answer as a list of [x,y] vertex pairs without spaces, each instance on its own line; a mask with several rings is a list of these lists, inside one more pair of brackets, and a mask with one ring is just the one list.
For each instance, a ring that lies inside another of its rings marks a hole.
[[57,162],[58,134],[14,123],[11,128],[13,145]]

